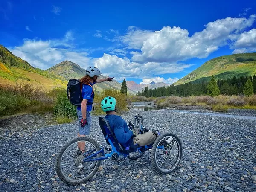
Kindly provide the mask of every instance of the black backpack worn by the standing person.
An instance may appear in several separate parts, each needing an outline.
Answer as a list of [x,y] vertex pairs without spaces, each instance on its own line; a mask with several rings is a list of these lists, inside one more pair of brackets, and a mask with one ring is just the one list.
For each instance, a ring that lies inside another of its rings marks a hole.
[[[90,84],[87,84],[87,85],[90,85]],[[71,104],[81,107],[81,103],[83,101],[82,88],[83,88],[83,84],[79,81],[79,79],[70,79],[68,81],[67,99],[70,101]],[[92,92],[92,94],[93,94],[93,92]],[[87,103],[87,104],[89,104],[89,103]],[[92,104],[92,103],[90,103],[90,104]]]

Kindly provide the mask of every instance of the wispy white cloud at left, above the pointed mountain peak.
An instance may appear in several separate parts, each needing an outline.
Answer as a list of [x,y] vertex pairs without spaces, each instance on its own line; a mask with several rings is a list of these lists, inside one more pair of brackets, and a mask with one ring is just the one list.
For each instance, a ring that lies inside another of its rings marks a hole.
[[[24,39],[22,46],[9,48],[15,55],[28,61],[32,66],[46,70],[64,60],[70,60],[81,67],[88,67],[90,58],[87,52],[73,49],[72,32],[68,31],[64,38],[52,40]],[[64,48],[58,48],[58,46]]]

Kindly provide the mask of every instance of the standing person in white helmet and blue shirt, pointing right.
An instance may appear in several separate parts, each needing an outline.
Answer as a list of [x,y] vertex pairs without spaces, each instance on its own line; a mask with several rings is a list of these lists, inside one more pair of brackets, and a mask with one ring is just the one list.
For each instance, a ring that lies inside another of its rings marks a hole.
[[[85,135],[90,134],[90,125],[91,125],[91,115],[90,111],[92,111],[93,99],[94,99],[94,91],[93,85],[96,83],[101,83],[104,81],[113,81],[113,77],[98,79],[99,75],[102,74],[97,67],[89,66],[86,69],[85,76],[80,79],[82,83],[82,103],[81,107],[77,107],[77,117],[79,121],[79,132],[77,134],[78,137],[84,137]],[[85,143],[78,143],[77,153],[82,153],[84,151]]]

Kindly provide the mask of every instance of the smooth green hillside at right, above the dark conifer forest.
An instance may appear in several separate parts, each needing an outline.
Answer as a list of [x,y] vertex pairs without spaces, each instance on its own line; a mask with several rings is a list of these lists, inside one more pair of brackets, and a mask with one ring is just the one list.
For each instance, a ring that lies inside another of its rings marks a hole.
[[254,74],[256,74],[256,53],[233,54],[205,62],[201,67],[198,67],[174,84],[209,81],[212,75],[216,79],[227,79],[234,76],[250,76]]

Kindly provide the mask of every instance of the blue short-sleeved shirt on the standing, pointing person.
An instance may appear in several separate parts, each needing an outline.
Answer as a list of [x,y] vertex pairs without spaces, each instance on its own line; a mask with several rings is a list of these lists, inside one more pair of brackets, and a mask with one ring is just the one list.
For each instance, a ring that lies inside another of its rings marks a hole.
[[[95,82],[89,83],[89,84],[93,86]],[[83,88],[82,88],[82,97],[83,99],[88,100],[86,105],[86,111],[92,111],[92,108],[93,108],[92,104],[90,103],[93,103],[94,93],[93,93],[93,87],[91,87],[90,85],[83,84]],[[81,111],[81,107],[77,107],[77,110]]]

